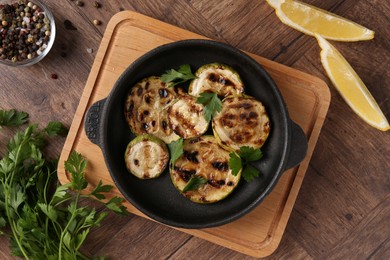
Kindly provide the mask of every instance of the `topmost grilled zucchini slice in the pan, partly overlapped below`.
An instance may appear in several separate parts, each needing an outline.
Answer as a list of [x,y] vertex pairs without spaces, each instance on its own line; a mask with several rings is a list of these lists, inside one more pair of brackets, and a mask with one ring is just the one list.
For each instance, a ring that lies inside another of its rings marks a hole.
[[230,66],[221,63],[203,65],[196,72],[188,93],[195,97],[203,92],[214,92],[218,96],[227,97],[244,92],[240,75]]

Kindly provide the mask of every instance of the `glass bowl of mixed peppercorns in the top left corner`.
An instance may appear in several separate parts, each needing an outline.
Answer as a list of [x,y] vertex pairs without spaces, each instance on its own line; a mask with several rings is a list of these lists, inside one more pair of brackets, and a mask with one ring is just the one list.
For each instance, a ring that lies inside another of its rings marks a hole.
[[53,14],[39,0],[0,0],[0,64],[39,62],[49,53],[55,34]]

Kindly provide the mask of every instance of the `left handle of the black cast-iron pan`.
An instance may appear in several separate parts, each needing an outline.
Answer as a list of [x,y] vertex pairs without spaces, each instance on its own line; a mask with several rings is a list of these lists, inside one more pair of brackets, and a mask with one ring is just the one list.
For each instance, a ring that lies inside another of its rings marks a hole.
[[102,112],[106,99],[99,100],[92,104],[85,114],[84,130],[88,139],[100,146],[100,123],[102,118]]

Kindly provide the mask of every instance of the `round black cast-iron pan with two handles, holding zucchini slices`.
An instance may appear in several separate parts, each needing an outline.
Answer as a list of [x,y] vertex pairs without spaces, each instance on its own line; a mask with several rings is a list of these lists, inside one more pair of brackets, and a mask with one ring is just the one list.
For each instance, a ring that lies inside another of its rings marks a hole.
[[[134,138],[123,113],[129,89],[139,80],[190,64],[220,62],[233,67],[245,84],[245,93],[260,100],[271,121],[271,133],[262,147],[263,158],[255,166],[262,177],[241,180],[226,199],[197,204],[173,186],[169,172],[151,180],[139,180],[125,166],[124,152]],[[115,82],[107,98],[93,104],[85,116],[89,139],[103,151],[110,175],[123,196],[150,218],[180,228],[215,227],[236,220],[258,206],[283,172],[305,157],[307,139],[289,117],[283,97],[268,73],[251,57],[227,44],[211,40],[184,40],[157,47],[134,61]]]

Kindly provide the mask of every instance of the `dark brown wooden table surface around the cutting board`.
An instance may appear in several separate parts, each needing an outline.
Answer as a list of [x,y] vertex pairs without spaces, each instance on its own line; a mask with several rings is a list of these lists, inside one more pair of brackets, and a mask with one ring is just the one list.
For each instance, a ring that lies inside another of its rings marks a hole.
[[[390,258],[390,135],[365,124],[327,78],[312,37],[283,25],[265,1],[42,0],[53,10],[57,38],[49,55],[27,68],[0,67],[0,108],[30,114],[44,126],[70,126],[110,18],[133,10],[229,43],[324,80],[331,104],[298,199],[278,249],[269,259]],[[334,45],[344,54],[390,118],[389,1],[307,0],[375,31],[375,39]],[[101,25],[94,25],[99,19]],[[69,30],[70,21],[77,30]],[[51,74],[58,75],[52,79]],[[12,131],[11,131],[12,132]],[[0,132],[4,151],[9,131]],[[59,156],[65,139],[50,144]],[[96,205],[97,206],[97,205]],[[110,259],[251,259],[252,257],[130,215],[110,214],[84,247]],[[12,259],[0,237],[0,259]]]

